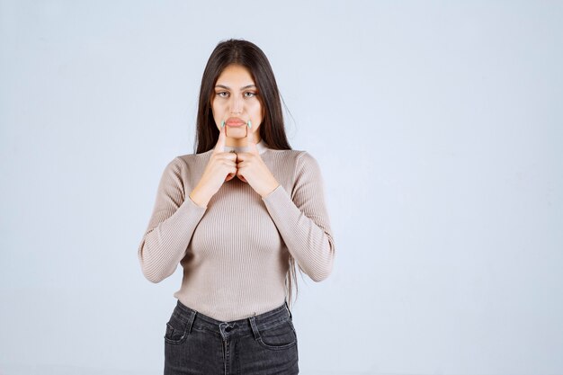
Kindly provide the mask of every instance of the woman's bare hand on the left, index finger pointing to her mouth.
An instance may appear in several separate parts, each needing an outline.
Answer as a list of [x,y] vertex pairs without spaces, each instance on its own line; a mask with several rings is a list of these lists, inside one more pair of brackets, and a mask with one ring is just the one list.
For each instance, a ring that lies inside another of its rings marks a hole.
[[200,182],[190,193],[190,198],[198,206],[207,207],[207,203],[219,191],[221,185],[237,175],[237,154],[225,152],[226,131],[226,126],[221,127],[210,161],[205,166]]

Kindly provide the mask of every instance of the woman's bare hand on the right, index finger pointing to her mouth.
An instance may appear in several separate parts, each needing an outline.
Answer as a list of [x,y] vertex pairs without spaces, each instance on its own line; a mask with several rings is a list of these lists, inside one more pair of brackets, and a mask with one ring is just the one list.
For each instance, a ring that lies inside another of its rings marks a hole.
[[268,166],[264,164],[255,142],[250,137],[252,134],[250,131],[246,133],[249,151],[237,153],[237,177],[250,184],[255,192],[264,198],[270,192],[273,192],[280,183],[270,172]]

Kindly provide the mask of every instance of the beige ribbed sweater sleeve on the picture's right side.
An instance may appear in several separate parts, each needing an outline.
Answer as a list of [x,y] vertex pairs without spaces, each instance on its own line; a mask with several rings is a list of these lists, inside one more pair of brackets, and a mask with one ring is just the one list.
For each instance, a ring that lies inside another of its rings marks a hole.
[[301,152],[290,194],[280,184],[263,201],[301,270],[314,281],[325,280],[332,271],[335,243],[317,160]]

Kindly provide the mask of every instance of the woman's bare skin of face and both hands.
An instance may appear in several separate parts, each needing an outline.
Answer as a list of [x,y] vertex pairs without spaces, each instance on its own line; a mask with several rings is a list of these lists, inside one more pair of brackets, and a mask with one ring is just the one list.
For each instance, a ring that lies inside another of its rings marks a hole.
[[[223,183],[235,176],[248,183],[263,198],[280,185],[256,148],[256,143],[261,140],[258,130],[264,118],[263,105],[257,96],[255,81],[246,67],[229,65],[221,72],[211,98],[219,138],[200,182],[190,193],[190,198],[198,206],[207,207]],[[251,121],[252,128],[247,125],[221,126],[223,121],[233,117]],[[225,152],[225,146],[248,147],[249,151]]]

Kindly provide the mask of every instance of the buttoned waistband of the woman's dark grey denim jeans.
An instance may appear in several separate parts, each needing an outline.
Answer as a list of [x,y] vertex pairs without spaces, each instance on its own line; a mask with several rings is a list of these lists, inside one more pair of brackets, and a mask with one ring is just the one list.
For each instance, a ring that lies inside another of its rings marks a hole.
[[273,326],[278,326],[279,324],[292,319],[287,301],[279,308],[274,308],[273,310],[266,311],[263,314],[247,317],[245,319],[224,322],[213,317],[203,315],[192,308],[188,308],[178,299],[176,307],[174,308],[173,316],[187,324],[186,329],[188,332],[191,332],[192,327],[195,326],[196,329],[199,330],[217,333],[221,335],[223,339],[248,334],[259,336],[260,331],[272,328]]

